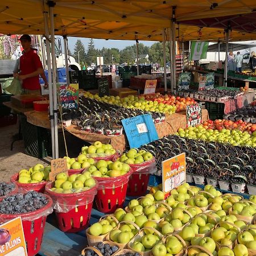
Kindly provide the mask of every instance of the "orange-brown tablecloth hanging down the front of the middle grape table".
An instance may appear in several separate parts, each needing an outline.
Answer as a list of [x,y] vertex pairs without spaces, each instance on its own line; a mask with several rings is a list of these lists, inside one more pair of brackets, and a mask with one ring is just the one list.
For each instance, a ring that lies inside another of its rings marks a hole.
[[[209,119],[208,111],[206,109],[202,110],[202,120],[206,121]],[[158,137],[164,137],[168,134],[176,133],[177,129],[180,127],[186,127],[187,120],[185,112],[175,113],[172,115],[167,115],[166,119],[163,123],[156,123],[156,131],[158,133]],[[115,150],[123,151],[126,146],[128,146],[127,139],[125,135],[121,135],[119,137],[108,137],[106,135],[98,135],[95,133],[87,133],[86,131],[82,131],[78,126],[64,126],[65,130],[69,133],[75,135],[77,138],[82,139],[86,142],[94,142],[101,141],[102,143],[110,143],[112,144]]]

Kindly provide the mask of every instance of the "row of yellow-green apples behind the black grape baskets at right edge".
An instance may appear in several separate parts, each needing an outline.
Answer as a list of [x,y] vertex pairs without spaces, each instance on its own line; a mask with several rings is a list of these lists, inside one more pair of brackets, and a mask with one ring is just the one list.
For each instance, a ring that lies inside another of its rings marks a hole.
[[203,125],[195,127],[189,126],[186,129],[179,128],[176,135],[189,139],[203,139],[206,141],[216,141],[229,143],[232,146],[251,146],[256,147],[256,131],[250,134],[248,131],[221,129],[206,129]]

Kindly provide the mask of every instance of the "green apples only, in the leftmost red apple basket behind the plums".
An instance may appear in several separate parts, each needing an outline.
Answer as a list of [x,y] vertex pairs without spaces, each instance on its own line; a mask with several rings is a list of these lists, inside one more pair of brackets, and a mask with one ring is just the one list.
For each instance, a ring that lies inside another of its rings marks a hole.
[[19,183],[39,183],[49,180],[49,172],[51,166],[44,167],[43,164],[36,164],[28,170],[22,169],[19,171]]

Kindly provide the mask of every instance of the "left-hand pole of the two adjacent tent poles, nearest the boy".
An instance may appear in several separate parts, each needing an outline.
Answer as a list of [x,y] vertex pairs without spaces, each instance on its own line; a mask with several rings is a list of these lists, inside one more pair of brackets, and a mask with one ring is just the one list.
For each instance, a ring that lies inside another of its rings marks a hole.
[[[47,11],[43,12],[44,15],[44,33],[46,38],[49,38],[48,30],[48,17]],[[47,70],[48,70],[48,84],[49,84],[49,116],[51,121],[51,139],[52,139],[52,158],[55,159],[55,129],[53,119],[53,94],[52,94],[52,73],[51,73],[51,53],[49,41],[46,39],[46,54],[47,54]],[[44,44],[44,42],[42,43]]]

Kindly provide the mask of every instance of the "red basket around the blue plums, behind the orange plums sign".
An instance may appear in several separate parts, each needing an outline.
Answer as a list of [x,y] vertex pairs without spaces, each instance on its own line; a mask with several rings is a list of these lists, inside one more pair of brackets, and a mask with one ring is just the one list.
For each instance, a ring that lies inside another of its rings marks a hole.
[[48,199],[48,204],[38,210],[34,210],[33,212],[0,214],[0,219],[3,222],[13,220],[16,217],[22,218],[28,256],[34,256],[40,251],[46,218],[50,213],[52,213],[52,199],[47,195],[46,197]]

